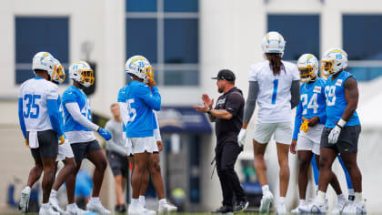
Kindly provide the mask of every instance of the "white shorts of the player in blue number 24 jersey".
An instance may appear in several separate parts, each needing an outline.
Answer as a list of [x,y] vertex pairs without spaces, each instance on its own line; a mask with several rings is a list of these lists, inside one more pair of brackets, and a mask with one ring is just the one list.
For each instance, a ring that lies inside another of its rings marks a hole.
[[319,145],[323,129],[324,125],[317,124],[315,127],[309,127],[307,133],[300,130],[297,138],[297,150],[312,151],[319,155]]

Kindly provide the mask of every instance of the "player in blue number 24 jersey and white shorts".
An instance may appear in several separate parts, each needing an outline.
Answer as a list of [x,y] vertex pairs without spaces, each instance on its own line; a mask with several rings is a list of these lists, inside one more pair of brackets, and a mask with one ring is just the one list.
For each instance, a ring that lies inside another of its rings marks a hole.
[[[315,154],[317,165],[319,164],[319,143],[327,120],[326,98],[325,98],[325,79],[317,77],[318,61],[316,56],[304,54],[297,60],[297,67],[300,72],[300,103],[297,106],[295,129],[293,134],[290,151],[297,153],[298,157],[298,190],[299,205],[292,210],[298,213],[299,208],[307,206],[307,171],[310,161]],[[297,152],[296,152],[297,151]],[[314,166],[314,168],[316,165]],[[332,173],[330,184],[336,190],[337,204],[332,213],[339,213],[347,202],[342,194],[337,176]]]

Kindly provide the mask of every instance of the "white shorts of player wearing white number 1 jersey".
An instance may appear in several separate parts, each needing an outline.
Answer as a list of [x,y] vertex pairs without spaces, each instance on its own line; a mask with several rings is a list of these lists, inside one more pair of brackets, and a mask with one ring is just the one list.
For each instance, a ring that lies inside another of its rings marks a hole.
[[274,135],[277,143],[290,145],[292,142],[292,124],[290,122],[256,123],[254,139],[266,144]]

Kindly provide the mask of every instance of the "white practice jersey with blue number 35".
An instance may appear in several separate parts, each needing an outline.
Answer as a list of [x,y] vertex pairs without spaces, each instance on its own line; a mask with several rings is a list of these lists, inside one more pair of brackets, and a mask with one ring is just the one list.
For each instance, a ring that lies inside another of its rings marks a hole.
[[58,87],[41,77],[25,81],[20,87],[19,98],[23,99],[23,117],[26,131],[52,129],[46,99],[58,98]]

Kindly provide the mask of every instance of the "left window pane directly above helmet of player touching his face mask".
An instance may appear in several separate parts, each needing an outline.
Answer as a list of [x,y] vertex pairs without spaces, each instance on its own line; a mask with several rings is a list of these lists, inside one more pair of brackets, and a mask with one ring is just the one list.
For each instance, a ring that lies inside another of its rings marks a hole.
[[126,59],[146,56],[150,63],[157,62],[156,19],[126,19]]

